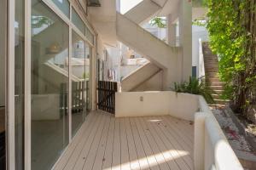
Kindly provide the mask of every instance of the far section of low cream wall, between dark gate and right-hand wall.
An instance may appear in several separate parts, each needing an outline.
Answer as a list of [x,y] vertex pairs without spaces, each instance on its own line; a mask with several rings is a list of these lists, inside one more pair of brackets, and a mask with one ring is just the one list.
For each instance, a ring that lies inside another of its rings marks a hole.
[[198,111],[198,97],[171,91],[116,93],[115,116],[171,115],[194,121]]

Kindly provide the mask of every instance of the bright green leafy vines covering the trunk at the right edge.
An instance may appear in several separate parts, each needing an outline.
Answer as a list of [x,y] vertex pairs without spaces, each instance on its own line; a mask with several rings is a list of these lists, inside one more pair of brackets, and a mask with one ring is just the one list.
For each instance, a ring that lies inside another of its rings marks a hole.
[[207,29],[212,51],[219,57],[219,76],[225,82],[223,96],[245,112],[255,99],[256,0],[208,1]]

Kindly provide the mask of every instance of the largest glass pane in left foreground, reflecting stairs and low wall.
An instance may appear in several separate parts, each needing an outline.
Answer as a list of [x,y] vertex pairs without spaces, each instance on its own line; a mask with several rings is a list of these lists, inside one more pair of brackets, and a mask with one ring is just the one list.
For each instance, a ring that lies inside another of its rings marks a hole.
[[68,26],[32,0],[32,170],[48,170],[68,144]]

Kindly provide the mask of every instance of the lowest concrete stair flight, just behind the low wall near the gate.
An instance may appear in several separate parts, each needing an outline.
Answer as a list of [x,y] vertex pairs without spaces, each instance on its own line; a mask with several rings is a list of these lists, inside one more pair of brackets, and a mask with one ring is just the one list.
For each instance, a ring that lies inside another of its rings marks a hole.
[[162,90],[162,71],[148,62],[124,77],[121,82],[122,92]]

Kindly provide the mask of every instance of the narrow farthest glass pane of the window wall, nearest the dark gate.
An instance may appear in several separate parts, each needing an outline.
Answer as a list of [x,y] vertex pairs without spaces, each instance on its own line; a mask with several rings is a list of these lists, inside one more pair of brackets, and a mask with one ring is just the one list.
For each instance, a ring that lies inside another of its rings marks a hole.
[[86,109],[89,112],[90,111],[90,59],[91,59],[91,53],[92,53],[92,48],[88,43],[85,44],[85,82],[86,82]]

